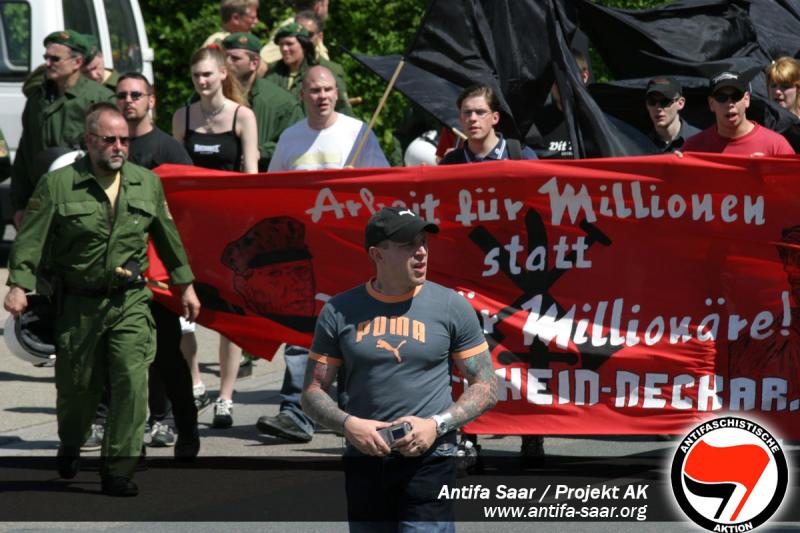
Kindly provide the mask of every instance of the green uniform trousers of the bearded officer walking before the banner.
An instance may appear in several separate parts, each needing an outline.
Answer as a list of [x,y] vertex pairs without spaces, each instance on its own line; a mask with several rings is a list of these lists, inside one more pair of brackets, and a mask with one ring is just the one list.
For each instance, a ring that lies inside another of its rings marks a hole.
[[156,335],[146,288],[108,296],[64,293],[56,318],[56,411],[61,444],[77,449],[89,436],[108,383],[109,413],[101,476],[130,478],[147,418],[147,370]]

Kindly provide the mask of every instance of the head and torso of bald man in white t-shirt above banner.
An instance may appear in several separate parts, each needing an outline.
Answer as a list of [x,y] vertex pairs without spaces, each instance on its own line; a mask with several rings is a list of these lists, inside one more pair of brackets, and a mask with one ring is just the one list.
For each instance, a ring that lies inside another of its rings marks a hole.
[[367,125],[335,111],[339,94],[330,70],[319,65],[311,67],[303,79],[300,97],[307,118],[283,132],[269,172],[389,166],[372,132],[361,154],[353,161]]

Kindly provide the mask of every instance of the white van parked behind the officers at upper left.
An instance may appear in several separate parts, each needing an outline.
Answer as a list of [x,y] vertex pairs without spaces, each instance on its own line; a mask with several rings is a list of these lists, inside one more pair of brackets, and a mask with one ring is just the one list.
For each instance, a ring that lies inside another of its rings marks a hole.
[[0,0],[0,128],[12,154],[22,134],[22,82],[44,62],[44,38],[63,29],[96,36],[106,68],[153,79],[138,0]]

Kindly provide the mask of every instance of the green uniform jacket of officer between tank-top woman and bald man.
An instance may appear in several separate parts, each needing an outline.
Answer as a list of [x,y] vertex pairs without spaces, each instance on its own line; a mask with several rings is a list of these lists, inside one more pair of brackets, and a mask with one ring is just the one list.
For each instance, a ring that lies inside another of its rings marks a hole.
[[258,125],[258,168],[266,172],[283,130],[305,118],[303,106],[289,91],[256,77],[248,97]]

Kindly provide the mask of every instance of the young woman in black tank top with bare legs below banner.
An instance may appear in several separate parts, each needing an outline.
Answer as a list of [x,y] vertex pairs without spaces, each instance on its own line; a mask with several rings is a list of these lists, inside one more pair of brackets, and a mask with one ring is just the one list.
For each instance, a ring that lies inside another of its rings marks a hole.
[[[215,45],[201,48],[192,55],[191,65],[192,82],[200,100],[175,112],[172,136],[184,144],[197,166],[257,173],[256,117],[247,107],[238,82],[225,67],[225,54]],[[220,336],[220,387],[214,405],[214,427],[227,428],[233,424],[233,385],[241,353],[238,346]],[[198,383],[197,356],[187,359],[193,384],[199,385],[202,382]]]

